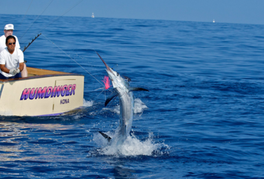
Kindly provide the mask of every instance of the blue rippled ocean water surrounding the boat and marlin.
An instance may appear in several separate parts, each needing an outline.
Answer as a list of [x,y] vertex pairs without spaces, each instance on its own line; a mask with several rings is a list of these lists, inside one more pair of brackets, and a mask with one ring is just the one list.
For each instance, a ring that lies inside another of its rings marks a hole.
[[[264,178],[264,26],[1,14],[30,67],[85,75],[84,107],[63,116],[0,116],[1,178]],[[33,23],[34,22],[34,23]],[[98,58],[132,79],[131,138],[113,133]],[[83,70],[80,65],[87,70]],[[88,73],[89,72],[89,73]],[[34,110],[34,109],[32,109]]]

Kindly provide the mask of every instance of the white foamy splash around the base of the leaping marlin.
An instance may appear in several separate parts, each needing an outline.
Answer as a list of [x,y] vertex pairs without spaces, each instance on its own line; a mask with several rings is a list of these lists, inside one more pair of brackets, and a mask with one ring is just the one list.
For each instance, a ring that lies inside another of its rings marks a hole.
[[[105,133],[111,137],[111,134]],[[112,139],[114,140],[114,139]],[[153,151],[157,151],[155,154],[163,154],[162,148],[169,149],[168,145],[164,143],[155,143],[153,140],[153,134],[149,133],[148,138],[144,141],[140,141],[133,134],[128,136],[122,145],[116,145],[115,143],[109,143],[100,134],[94,135],[94,141],[97,145],[102,147],[97,151],[100,155],[109,156],[151,156]]]

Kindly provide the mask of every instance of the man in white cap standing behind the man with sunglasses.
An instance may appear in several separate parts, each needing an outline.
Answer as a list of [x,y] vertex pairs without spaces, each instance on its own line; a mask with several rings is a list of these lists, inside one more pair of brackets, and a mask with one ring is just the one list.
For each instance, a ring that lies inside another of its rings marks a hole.
[[[13,24],[7,24],[5,25],[5,28],[3,28],[3,32],[5,34],[3,34],[2,36],[0,36],[0,53],[7,48],[7,46],[5,45],[5,39],[6,37],[13,35],[13,30],[14,30],[14,25]],[[14,36],[16,38],[16,48],[20,48],[19,45],[19,39],[17,39],[17,36]],[[27,67],[24,63],[24,67],[23,67],[23,71],[21,71],[21,76],[22,77],[28,77],[28,70]]]

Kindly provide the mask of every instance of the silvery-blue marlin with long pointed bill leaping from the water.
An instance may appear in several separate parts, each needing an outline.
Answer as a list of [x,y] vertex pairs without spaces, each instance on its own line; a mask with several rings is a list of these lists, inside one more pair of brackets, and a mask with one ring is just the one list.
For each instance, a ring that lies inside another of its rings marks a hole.
[[[96,52],[97,53],[97,52]],[[98,53],[97,53],[98,54]],[[112,81],[114,92],[108,96],[107,100],[104,103],[104,107],[116,96],[119,98],[120,102],[120,125],[118,129],[115,131],[117,134],[117,144],[122,145],[126,137],[129,136],[129,132],[131,131],[132,122],[133,122],[133,108],[134,108],[134,98],[133,91],[148,91],[148,89],[144,89],[142,87],[129,87],[129,81],[131,81],[128,77],[120,76],[118,72],[115,72],[111,69],[107,63],[104,62],[102,57],[98,54],[105,67],[107,67],[106,71],[109,78]],[[107,136],[107,134],[99,131],[104,138],[107,140],[111,140],[111,137]]]

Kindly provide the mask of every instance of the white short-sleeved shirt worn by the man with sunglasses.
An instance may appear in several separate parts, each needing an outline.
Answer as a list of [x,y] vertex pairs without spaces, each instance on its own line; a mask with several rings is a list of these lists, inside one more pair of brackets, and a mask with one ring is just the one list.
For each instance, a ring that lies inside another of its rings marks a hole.
[[[0,64],[5,65],[9,70],[16,69],[19,67],[19,63],[24,62],[24,54],[19,48],[14,48],[14,53],[10,54],[8,52],[8,48],[5,48],[1,53],[0,53]],[[12,74],[7,74],[5,72],[2,72],[0,70],[0,73],[3,74],[5,77],[11,77],[14,76]]]

